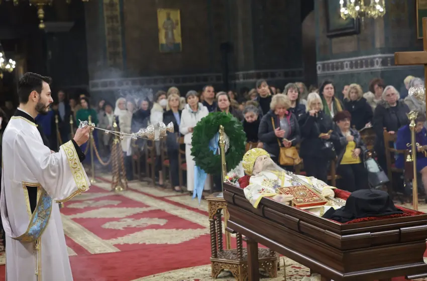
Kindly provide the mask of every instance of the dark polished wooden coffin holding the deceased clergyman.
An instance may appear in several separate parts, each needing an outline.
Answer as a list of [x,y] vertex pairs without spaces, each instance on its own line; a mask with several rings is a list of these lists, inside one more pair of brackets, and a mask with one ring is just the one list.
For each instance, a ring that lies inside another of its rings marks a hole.
[[427,214],[340,224],[268,198],[255,209],[243,189],[227,183],[224,198],[229,230],[335,281],[427,276]]

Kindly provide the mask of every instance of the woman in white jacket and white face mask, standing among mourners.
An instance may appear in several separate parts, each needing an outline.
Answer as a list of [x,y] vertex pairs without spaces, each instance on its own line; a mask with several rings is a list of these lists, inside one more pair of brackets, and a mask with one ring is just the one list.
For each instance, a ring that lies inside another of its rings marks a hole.
[[[163,122],[163,112],[165,111],[168,103],[166,99],[166,92],[158,91],[154,96],[154,100],[155,101],[153,103],[153,108],[151,108],[150,124],[154,125],[154,128],[156,129],[154,133],[154,137],[157,139],[159,138],[158,123]],[[162,161],[160,157],[160,141],[155,141],[154,145],[156,147],[156,155],[157,155],[155,170],[156,170],[156,173],[158,173],[159,175],[159,186],[164,187]]]

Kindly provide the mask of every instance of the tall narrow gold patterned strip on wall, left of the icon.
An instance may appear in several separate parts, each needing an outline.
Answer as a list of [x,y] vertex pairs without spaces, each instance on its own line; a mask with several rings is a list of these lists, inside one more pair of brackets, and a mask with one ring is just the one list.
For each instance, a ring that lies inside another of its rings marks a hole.
[[108,65],[123,69],[122,19],[120,0],[103,0],[105,45]]

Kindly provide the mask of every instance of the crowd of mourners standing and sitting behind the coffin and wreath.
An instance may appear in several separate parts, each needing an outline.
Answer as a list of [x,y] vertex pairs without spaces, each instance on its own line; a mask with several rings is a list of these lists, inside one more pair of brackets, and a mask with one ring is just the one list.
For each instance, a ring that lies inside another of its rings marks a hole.
[[[387,167],[386,148],[408,149],[410,129],[407,113],[415,110],[418,112],[417,170],[423,187],[427,189],[425,102],[408,95],[410,87],[424,86],[422,79],[406,77],[399,91],[380,78],[364,85],[369,89],[367,92],[355,83],[345,85],[338,92],[334,82],[329,80],[318,87],[310,86],[309,90],[302,82],[288,83],[283,90],[266,80],[258,80],[254,86],[253,89],[243,88],[239,93],[232,90],[216,92],[212,85],[204,86],[200,92],[190,90],[186,93],[170,87],[167,91],[157,91],[151,100],[141,98],[137,104],[135,99],[121,97],[115,104],[102,99],[97,101],[96,106],[91,106],[85,94],[67,97],[61,90],[49,113],[39,115],[36,121],[43,127],[53,151],[70,139],[72,126],[75,129],[80,120],[90,119],[104,129],[113,129],[117,124],[117,129],[124,133],[137,132],[150,124],[157,126],[159,122],[172,122],[175,132],[168,133],[165,138],[169,173],[165,175],[162,167],[160,141],[141,142],[134,146],[131,139],[125,138],[121,148],[126,174],[129,180],[133,179],[135,147],[139,147],[139,155],[143,155],[146,153],[145,147],[149,145],[155,151],[155,161],[150,167],[155,170],[156,185],[165,187],[168,177],[173,190],[192,194],[195,166],[191,156],[193,129],[209,112],[226,112],[242,122],[247,149],[264,148],[283,168],[325,182],[331,180],[329,176],[334,168],[338,175],[337,187],[353,192],[378,188],[369,180],[368,175],[372,171],[367,169],[367,159],[374,158],[379,170],[388,175],[390,167]],[[0,111],[2,130],[13,111],[11,104],[6,104]],[[384,141],[384,130],[395,136],[393,142]],[[364,141],[366,132],[374,136],[372,146],[367,146]],[[93,133],[100,158],[108,159],[113,135],[97,133],[97,130]],[[87,152],[86,147],[82,149]],[[283,163],[281,154],[287,149],[296,151],[301,163]],[[180,151],[185,160],[185,172],[180,169]],[[97,162],[97,159],[94,161]],[[393,167],[404,169],[404,162],[404,155],[393,155]],[[143,157],[141,165],[142,171],[148,165]],[[403,177],[400,176],[400,179]],[[397,184],[392,188],[399,192],[400,186],[403,185]],[[204,189],[212,192],[221,190],[221,176],[208,177]]]

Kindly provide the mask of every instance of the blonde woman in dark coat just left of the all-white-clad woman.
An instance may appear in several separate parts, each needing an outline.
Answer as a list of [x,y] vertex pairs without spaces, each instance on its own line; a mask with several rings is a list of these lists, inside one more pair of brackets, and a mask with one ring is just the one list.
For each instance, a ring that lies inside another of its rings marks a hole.
[[170,122],[173,123],[173,131],[167,132],[166,135],[166,148],[169,159],[170,181],[174,191],[181,192],[179,186],[179,124],[181,123],[181,110],[179,109],[179,96],[172,93],[168,96],[168,104],[166,111],[163,113],[163,123],[166,125]]

